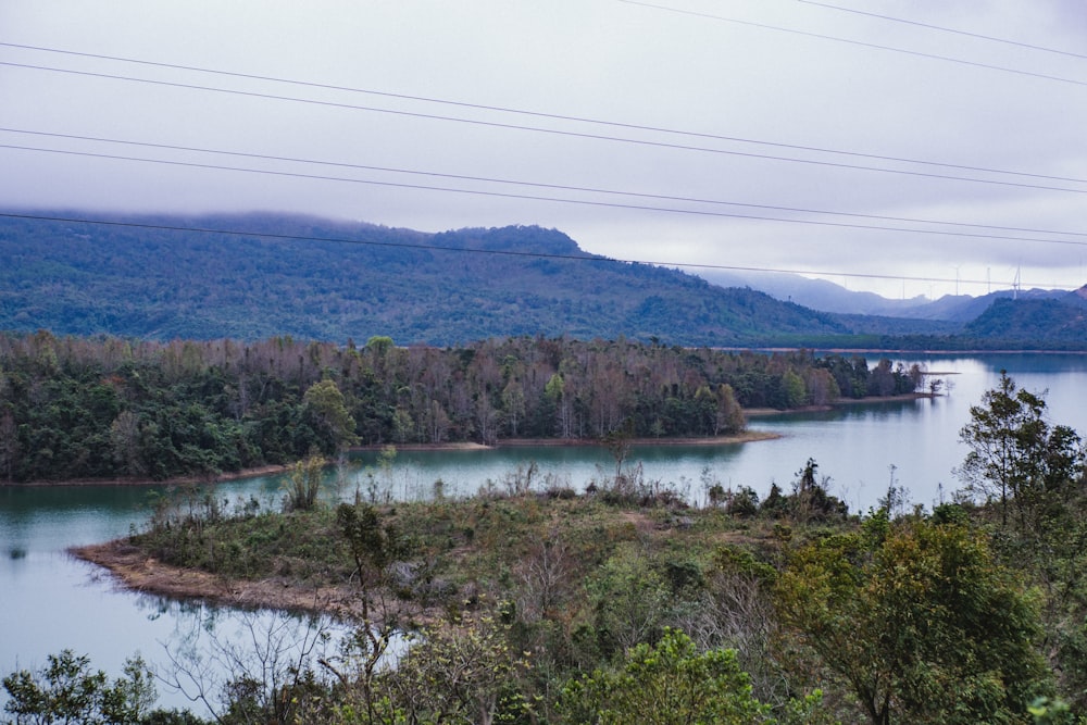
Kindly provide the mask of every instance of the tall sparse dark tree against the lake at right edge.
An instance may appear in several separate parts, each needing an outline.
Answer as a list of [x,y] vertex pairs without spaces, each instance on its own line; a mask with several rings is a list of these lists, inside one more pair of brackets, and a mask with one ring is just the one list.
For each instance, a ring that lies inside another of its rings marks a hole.
[[967,488],[1000,502],[1001,524],[1008,524],[1009,501],[1021,532],[1054,495],[1084,474],[1079,436],[1067,426],[1050,426],[1041,395],[1015,387],[1007,371],[1000,386],[972,405],[971,420],[959,432],[970,452],[957,474]]

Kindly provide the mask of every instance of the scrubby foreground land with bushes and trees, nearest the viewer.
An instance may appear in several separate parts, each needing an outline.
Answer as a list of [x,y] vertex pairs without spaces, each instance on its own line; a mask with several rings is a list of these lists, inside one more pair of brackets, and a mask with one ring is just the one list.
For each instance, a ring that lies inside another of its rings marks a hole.
[[1046,413],[1003,375],[961,430],[963,488],[932,511],[888,489],[851,514],[814,460],[762,500],[705,482],[699,508],[621,461],[584,491],[521,471],[412,502],[322,490],[320,457],[282,509],[180,488],[104,550],[298,588],[353,635],[318,653],[310,630],[296,655],[254,626],[257,653],[217,678],[175,651],[110,680],[64,651],[4,677],[5,709],[204,722],[155,709],[159,682],[224,725],[1082,725],[1084,447]]

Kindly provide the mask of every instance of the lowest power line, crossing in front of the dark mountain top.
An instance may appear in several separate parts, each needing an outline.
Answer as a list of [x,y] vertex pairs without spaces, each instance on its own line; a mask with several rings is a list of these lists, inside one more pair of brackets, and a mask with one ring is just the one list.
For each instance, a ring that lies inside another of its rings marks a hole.
[[[397,249],[417,249],[425,251],[443,251],[443,252],[461,252],[471,254],[496,254],[502,257],[522,257],[532,259],[551,259],[551,260],[570,260],[575,262],[617,262],[625,264],[646,264],[650,266],[660,267],[679,267],[679,268],[696,268],[696,270],[722,270],[730,272],[767,272],[767,273],[782,273],[782,274],[800,274],[800,275],[832,275],[841,277],[855,277],[859,279],[896,279],[904,282],[928,282],[928,283],[951,283],[959,282],[960,284],[987,284],[991,283],[991,279],[963,279],[963,278],[946,278],[946,277],[914,277],[908,275],[887,275],[887,274],[873,274],[873,273],[862,273],[862,272],[827,272],[827,271],[814,271],[814,270],[795,270],[795,268],[783,268],[783,267],[763,267],[763,266],[739,266],[739,265],[728,265],[728,264],[700,264],[694,262],[653,262],[644,260],[621,260],[610,257],[602,257],[599,254],[590,254],[586,252],[585,254],[557,254],[549,252],[524,252],[516,250],[507,249],[465,249],[459,247],[442,247],[440,245],[423,245],[417,242],[391,242],[391,241],[374,241],[370,239],[348,239],[343,237],[315,237],[308,235],[292,235],[292,234],[272,234],[267,232],[248,232],[245,229],[214,229],[207,227],[192,227],[192,226],[178,226],[170,224],[150,224],[140,222],[120,222],[115,220],[92,220],[92,218],[74,218],[67,216],[47,216],[39,214],[17,214],[13,212],[0,212],[0,217],[2,218],[18,218],[18,220],[29,220],[37,222],[64,222],[68,224],[96,224],[100,226],[110,227],[129,227],[138,229],[154,229],[158,232],[187,232],[193,234],[208,234],[208,235],[226,235],[226,236],[238,236],[238,237],[257,237],[260,239],[278,239],[283,241],[320,241],[320,242],[332,242],[332,243],[345,243],[345,245],[364,245],[368,247],[392,247]],[[1007,282],[997,282],[998,285],[1010,285]],[[1050,285],[1053,288],[1066,287],[1066,285]]]

